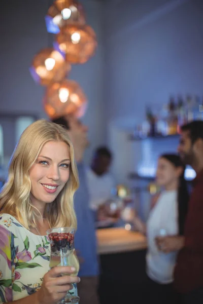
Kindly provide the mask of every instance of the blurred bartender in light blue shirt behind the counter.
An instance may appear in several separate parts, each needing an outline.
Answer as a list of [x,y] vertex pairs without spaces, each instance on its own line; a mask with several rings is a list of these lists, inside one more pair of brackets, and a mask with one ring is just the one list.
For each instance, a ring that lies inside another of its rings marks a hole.
[[109,172],[112,153],[106,146],[96,148],[91,165],[87,168],[87,181],[90,193],[90,208],[98,210],[112,196],[115,181]]

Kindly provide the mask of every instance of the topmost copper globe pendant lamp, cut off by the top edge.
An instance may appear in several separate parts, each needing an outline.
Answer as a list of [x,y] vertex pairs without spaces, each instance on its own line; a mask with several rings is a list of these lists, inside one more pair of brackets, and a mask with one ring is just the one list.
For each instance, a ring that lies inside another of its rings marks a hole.
[[84,25],[85,14],[81,4],[74,0],[56,0],[50,6],[45,17],[47,31],[59,33],[60,28],[67,24]]

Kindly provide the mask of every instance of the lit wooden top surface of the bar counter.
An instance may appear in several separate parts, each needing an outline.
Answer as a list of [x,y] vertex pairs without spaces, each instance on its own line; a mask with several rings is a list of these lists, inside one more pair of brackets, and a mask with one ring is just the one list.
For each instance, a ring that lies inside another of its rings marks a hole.
[[98,253],[119,253],[147,248],[146,237],[139,232],[126,231],[123,227],[96,231]]

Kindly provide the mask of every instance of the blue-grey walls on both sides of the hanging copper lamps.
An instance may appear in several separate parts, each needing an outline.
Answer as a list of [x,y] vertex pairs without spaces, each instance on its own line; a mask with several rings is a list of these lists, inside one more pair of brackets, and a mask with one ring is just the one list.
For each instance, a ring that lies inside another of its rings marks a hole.
[[[81,2],[98,38],[95,57],[73,66],[70,75],[89,99],[84,122],[92,145],[86,160],[107,136],[115,155],[114,172],[123,181],[128,168],[136,166],[131,162],[135,148],[131,150],[123,130],[144,119],[145,105],[167,102],[171,93],[203,95],[203,3]],[[11,0],[0,12],[4,23],[0,28],[0,113],[29,112],[45,117],[44,89],[35,84],[28,68],[32,57],[48,46],[44,16],[49,5],[49,0],[35,0],[35,5],[32,0]],[[140,159],[142,149],[136,150]]]

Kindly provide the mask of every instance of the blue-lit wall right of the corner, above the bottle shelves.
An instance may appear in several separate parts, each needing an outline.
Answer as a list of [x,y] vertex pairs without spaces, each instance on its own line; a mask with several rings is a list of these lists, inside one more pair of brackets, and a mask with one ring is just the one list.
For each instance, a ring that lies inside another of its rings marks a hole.
[[122,182],[123,168],[136,165],[120,130],[143,121],[146,104],[166,103],[170,94],[203,95],[202,12],[201,0],[121,0],[106,10],[105,101],[109,143],[114,154],[122,151],[114,162]]

